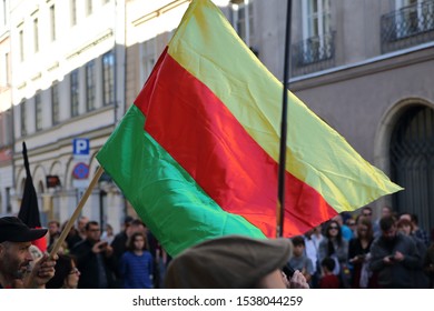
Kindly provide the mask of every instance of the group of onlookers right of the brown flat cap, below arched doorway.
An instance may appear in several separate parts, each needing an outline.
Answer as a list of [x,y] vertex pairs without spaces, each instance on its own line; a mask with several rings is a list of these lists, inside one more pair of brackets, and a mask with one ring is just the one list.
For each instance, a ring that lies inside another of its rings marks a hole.
[[430,238],[416,214],[396,214],[384,207],[374,220],[373,210],[365,207],[292,241],[289,263],[310,288],[434,288],[434,232]]

